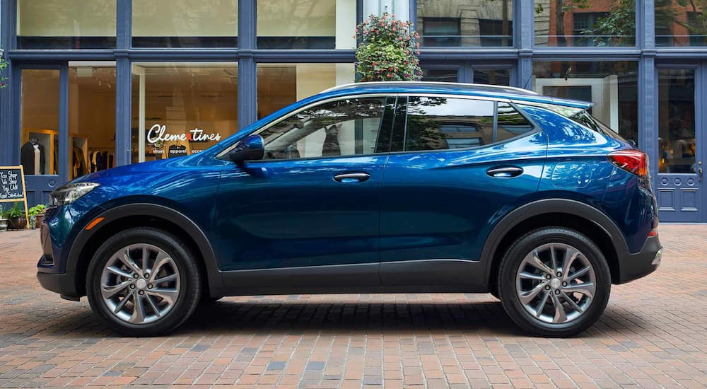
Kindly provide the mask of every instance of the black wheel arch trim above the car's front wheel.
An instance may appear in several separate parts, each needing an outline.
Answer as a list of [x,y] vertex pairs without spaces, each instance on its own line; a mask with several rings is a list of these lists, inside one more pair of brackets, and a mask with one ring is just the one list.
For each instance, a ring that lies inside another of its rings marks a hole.
[[69,254],[66,258],[66,272],[71,274],[76,274],[76,269],[78,268],[78,261],[83,252],[83,248],[86,243],[92,238],[101,228],[105,228],[110,222],[117,221],[118,219],[123,219],[129,216],[153,216],[160,219],[165,219],[179,226],[190,238],[194,240],[197,244],[197,249],[199,252],[196,254],[201,257],[204,262],[204,268],[206,269],[206,277],[209,283],[209,292],[214,292],[218,289],[223,288],[223,279],[221,278],[221,272],[218,271],[218,262],[216,261],[216,253],[214,248],[211,246],[209,239],[206,238],[206,234],[201,228],[194,223],[192,219],[188,216],[182,214],[180,211],[176,211],[170,207],[165,207],[160,204],[152,203],[133,203],[133,204],[123,204],[117,207],[107,209],[101,212],[95,217],[87,221],[95,220],[97,217],[103,217],[96,228],[91,228],[86,230],[85,226],[81,226],[81,231],[76,235],[76,239],[71,244],[69,249]]

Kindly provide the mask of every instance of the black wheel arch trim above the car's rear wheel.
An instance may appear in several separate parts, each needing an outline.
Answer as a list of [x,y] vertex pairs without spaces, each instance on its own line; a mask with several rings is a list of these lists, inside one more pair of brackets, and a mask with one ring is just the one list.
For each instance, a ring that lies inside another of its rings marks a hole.
[[577,200],[539,199],[510,211],[510,213],[504,216],[503,219],[501,219],[501,221],[493,227],[489,233],[489,236],[486,238],[484,247],[481,249],[481,258],[486,260],[486,273],[484,279],[489,285],[494,283],[494,280],[491,279],[493,260],[496,257],[496,251],[499,249],[498,245],[501,243],[501,240],[506,237],[506,234],[509,233],[515,226],[518,226],[518,224],[534,216],[557,213],[579,216],[601,228],[607,236],[612,238],[612,245],[614,245],[614,250],[619,258],[619,270],[621,270],[621,260],[629,257],[630,255],[629,245],[626,243],[624,234],[621,233],[621,230],[616,223],[614,223],[612,219],[609,219],[609,216],[604,214],[599,209]]

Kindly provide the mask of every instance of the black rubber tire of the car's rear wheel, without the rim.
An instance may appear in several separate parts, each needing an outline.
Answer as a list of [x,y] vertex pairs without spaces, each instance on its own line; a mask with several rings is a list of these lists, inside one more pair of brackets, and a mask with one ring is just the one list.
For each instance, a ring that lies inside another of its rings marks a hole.
[[[531,315],[518,296],[516,277],[525,256],[548,243],[570,245],[579,250],[595,272],[595,292],[588,308],[566,323],[546,323]],[[540,228],[525,234],[508,248],[498,272],[498,291],[503,308],[513,321],[530,335],[570,337],[593,325],[604,313],[611,293],[611,273],[602,251],[588,237],[569,228]]]

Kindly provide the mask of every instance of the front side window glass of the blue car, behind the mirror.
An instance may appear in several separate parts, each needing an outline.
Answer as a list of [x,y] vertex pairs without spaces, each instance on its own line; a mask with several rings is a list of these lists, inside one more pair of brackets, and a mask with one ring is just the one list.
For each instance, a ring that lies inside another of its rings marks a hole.
[[259,133],[265,142],[264,159],[354,156],[387,151],[377,146],[383,143],[381,129],[385,107],[385,97],[348,98],[297,112]]

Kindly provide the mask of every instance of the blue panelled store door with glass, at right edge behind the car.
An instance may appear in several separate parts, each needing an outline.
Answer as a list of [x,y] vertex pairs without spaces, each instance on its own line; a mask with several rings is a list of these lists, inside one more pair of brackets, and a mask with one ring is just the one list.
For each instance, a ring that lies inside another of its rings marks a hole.
[[[658,68],[658,176],[660,221],[707,221],[703,189],[706,66]],[[654,170],[655,171],[655,170]]]

